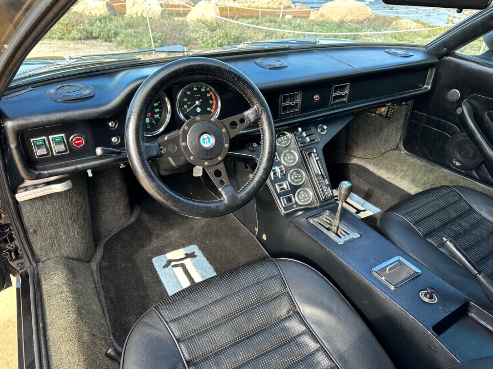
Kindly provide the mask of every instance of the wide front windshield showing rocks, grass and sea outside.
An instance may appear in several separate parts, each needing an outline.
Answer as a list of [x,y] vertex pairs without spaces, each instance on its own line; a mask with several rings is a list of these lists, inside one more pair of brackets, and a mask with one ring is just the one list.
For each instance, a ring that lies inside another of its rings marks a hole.
[[[386,5],[381,0],[302,1],[77,1],[35,46],[17,79],[58,66],[68,69],[194,53],[355,41],[426,44],[475,12]],[[166,47],[171,45],[175,46]],[[142,49],[147,50],[124,54],[133,58],[105,56]],[[67,59],[80,55],[84,58]]]

